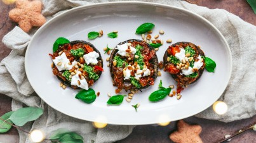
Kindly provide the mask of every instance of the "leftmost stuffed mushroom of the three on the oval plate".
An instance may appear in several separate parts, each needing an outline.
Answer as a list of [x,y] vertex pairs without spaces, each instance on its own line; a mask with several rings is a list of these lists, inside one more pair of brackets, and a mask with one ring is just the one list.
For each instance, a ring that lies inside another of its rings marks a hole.
[[62,84],[72,89],[88,90],[103,71],[100,52],[93,44],[83,40],[61,44],[50,56],[53,60],[53,74]]

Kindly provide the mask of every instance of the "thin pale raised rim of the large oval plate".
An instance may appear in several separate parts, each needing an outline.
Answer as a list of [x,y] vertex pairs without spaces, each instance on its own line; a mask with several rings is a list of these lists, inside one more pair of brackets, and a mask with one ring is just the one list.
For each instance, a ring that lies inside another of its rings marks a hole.
[[[44,27],[48,26],[50,23],[52,23],[55,19],[57,19],[58,17],[62,16],[62,15],[66,15],[66,13],[70,13],[72,11],[76,11],[76,10],[79,10],[79,9],[86,9],[86,8],[91,8],[91,7],[101,7],[101,6],[112,6],[112,5],[118,5],[118,4],[140,4],[140,6],[158,6],[158,7],[161,7],[161,8],[168,8],[168,9],[175,9],[175,10],[178,10],[178,11],[184,11],[185,13],[188,13],[189,15],[194,15],[196,17],[198,17],[199,19],[201,19],[203,22],[207,23],[208,25],[210,25],[210,27],[212,27],[215,32],[217,32],[217,34],[220,36],[220,39],[223,40],[224,44],[226,45],[227,47],[227,56],[229,58],[229,61],[230,61],[230,70],[227,71],[229,77],[228,77],[228,80],[226,81],[226,83],[224,84],[225,86],[223,86],[224,88],[220,91],[220,95],[218,97],[216,97],[215,101],[217,101],[217,99],[220,98],[220,96],[222,96],[222,94],[224,93],[224,90],[226,90],[227,88],[227,85],[229,84],[229,80],[231,78],[231,75],[232,75],[232,54],[231,54],[231,49],[229,47],[229,44],[227,43],[227,40],[225,39],[224,35],[221,34],[221,32],[219,31],[219,29],[217,27],[215,27],[211,22],[209,22],[208,20],[206,20],[206,18],[204,18],[203,16],[201,15],[198,15],[197,13],[194,13],[192,11],[189,11],[187,9],[184,9],[184,8],[179,8],[177,6],[171,6],[171,5],[167,5],[167,4],[159,4],[159,3],[151,3],[151,2],[142,2],[142,1],[119,1],[119,2],[106,2],[106,3],[93,3],[93,4],[88,4],[88,5],[84,5],[84,6],[78,6],[76,8],[71,8],[71,9],[68,9],[67,11],[64,11],[63,13],[60,13],[59,15],[51,18],[48,22],[44,23],[44,25],[42,27],[40,27],[36,32],[35,34],[31,37],[30,39],[30,42],[29,42],[29,45],[27,46],[27,49],[26,49],[26,52],[25,52],[25,73],[27,75],[27,78],[29,80],[29,83],[32,79],[30,79],[29,77],[29,67],[28,67],[28,64],[27,64],[27,60],[28,60],[28,56],[27,56],[27,51],[29,51],[30,49],[30,43],[32,40],[34,40],[34,37],[36,37],[37,34],[39,34],[41,32],[41,29],[43,29]],[[34,89],[34,85],[30,84],[31,87]],[[36,92],[36,90],[34,90]],[[39,96],[39,94],[36,92],[36,94]],[[43,101],[44,99],[39,96]],[[48,104],[47,101],[44,101],[44,103]],[[48,104],[48,106],[50,106]],[[205,111],[205,109],[209,108],[210,106],[212,106],[212,104],[210,104],[209,106],[206,106],[205,108],[202,108],[200,111],[196,111],[194,113],[191,113],[191,114],[186,114],[184,116],[179,116],[179,118],[174,118],[172,119],[172,121],[176,121],[176,120],[181,120],[181,119],[184,119],[184,118],[188,118],[190,116],[194,116],[198,113],[201,113],[202,111]],[[51,108],[59,111],[60,113],[63,113],[64,115],[68,115],[68,116],[71,116],[73,118],[77,118],[77,119],[80,119],[80,120],[84,120],[84,121],[93,121],[93,120],[88,120],[88,119],[84,119],[84,118],[80,118],[80,117],[77,117],[75,115],[70,115],[68,113],[64,113],[62,111],[60,111],[59,109],[56,109],[55,107],[53,106],[50,106]],[[112,125],[149,125],[149,124],[155,124],[155,123],[158,123],[157,121],[147,121],[147,122],[143,122],[143,123],[114,123],[112,121],[107,121],[108,124],[112,124]]]

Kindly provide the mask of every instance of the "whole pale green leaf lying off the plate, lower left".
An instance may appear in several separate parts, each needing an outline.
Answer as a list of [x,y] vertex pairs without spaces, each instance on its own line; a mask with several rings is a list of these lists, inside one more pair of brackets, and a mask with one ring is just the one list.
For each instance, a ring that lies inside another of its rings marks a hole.
[[28,121],[34,121],[39,118],[43,114],[43,109],[41,108],[34,108],[34,107],[27,107],[27,108],[20,108],[17,111],[14,111],[13,114],[10,116],[10,120],[13,121],[15,125],[23,126]]

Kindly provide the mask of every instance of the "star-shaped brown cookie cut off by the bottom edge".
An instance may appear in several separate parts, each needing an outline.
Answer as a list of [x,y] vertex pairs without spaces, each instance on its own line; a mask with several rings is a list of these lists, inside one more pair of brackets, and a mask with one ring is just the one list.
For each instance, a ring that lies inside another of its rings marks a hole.
[[177,124],[178,130],[170,134],[173,142],[179,143],[201,143],[203,142],[199,136],[202,128],[199,125],[189,125],[183,120],[179,120]]

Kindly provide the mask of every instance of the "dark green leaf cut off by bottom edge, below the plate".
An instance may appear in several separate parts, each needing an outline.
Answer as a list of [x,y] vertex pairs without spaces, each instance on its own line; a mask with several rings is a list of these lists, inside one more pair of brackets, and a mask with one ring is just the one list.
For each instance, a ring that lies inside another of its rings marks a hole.
[[76,132],[71,132],[65,128],[59,128],[50,135],[51,142],[83,142],[83,137]]

